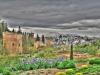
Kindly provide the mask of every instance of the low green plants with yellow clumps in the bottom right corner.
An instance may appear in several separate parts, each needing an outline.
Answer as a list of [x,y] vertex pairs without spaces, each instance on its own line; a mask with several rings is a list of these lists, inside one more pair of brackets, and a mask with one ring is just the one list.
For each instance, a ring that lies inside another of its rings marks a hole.
[[98,72],[100,72],[100,65],[89,65],[88,67],[84,65],[82,68],[75,68],[75,69],[67,69],[66,75],[90,75],[93,73],[93,75],[97,75]]

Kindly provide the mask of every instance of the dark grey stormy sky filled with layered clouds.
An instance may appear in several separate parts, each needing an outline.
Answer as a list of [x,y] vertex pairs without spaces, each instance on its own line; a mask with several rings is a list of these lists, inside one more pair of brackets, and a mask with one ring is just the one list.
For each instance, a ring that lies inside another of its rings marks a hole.
[[10,29],[100,36],[100,0],[0,0]]

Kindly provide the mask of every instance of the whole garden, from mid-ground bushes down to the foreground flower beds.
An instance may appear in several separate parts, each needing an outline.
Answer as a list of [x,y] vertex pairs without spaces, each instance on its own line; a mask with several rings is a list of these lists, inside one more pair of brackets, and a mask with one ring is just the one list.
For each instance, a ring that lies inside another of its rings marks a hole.
[[[18,56],[1,55],[0,75],[100,75],[98,41],[75,45],[73,60],[70,59],[70,50],[58,51],[53,46],[40,49],[42,50],[30,50],[31,53]],[[75,58],[75,54],[84,53],[89,56]]]

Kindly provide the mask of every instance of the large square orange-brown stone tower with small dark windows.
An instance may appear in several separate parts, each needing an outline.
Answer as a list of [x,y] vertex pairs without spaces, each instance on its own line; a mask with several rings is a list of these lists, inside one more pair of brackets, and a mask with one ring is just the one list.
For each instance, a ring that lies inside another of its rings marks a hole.
[[22,34],[3,32],[3,46],[7,48],[9,55],[22,53]]

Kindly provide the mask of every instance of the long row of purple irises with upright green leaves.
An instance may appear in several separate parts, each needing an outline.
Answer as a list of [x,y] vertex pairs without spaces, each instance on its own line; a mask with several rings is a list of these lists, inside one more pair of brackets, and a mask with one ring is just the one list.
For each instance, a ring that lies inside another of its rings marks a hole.
[[63,57],[59,58],[33,58],[33,59],[21,59],[20,63],[11,67],[12,70],[34,70],[41,68],[56,68],[59,63],[64,60]]

